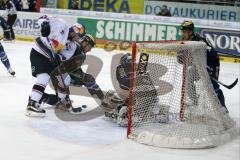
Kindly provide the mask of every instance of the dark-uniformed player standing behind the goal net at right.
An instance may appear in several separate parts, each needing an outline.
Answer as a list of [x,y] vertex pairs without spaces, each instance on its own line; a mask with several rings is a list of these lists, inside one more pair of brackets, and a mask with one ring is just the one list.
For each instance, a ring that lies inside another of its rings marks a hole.
[[[219,77],[219,69],[220,69],[220,62],[217,52],[214,50],[213,46],[203,37],[201,37],[199,34],[194,32],[194,24],[192,21],[184,21],[180,26],[181,34],[182,34],[182,40],[185,41],[203,41],[207,44],[207,70],[210,77],[213,77],[215,79],[218,79]],[[178,56],[181,56],[178,55]],[[178,57],[178,59],[181,59]],[[180,62],[181,63],[181,62]],[[218,99],[221,103],[223,112],[228,113],[228,110],[225,105],[225,99],[222,90],[220,89],[219,84],[212,80],[213,88],[218,96]],[[194,94],[192,94],[194,95]],[[191,97],[190,97],[191,98]],[[194,98],[196,99],[196,97]],[[197,103],[197,102],[194,102]]]

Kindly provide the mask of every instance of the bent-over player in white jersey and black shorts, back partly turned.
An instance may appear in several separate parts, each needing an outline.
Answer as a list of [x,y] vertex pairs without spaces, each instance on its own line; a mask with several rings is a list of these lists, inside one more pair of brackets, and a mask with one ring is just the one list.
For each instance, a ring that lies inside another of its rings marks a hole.
[[39,101],[47,86],[50,73],[60,63],[56,56],[68,39],[68,24],[56,17],[42,16],[38,20],[41,36],[37,37],[30,52],[32,76],[36,77],[27,105],[28,116],[45,116]]

